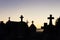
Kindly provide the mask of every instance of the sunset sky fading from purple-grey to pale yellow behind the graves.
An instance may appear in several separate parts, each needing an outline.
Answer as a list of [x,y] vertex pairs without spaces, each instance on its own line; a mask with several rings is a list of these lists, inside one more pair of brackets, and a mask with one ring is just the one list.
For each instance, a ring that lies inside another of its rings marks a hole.
[[44,22],[49,23],[47,17],[52,14],[56,18],[60,16],[60,0],[0,0],[0,21],[6,22],[8,17],[12,21],[20,21],[20,15],[24,16],[24,21],[34,20],[37,28]]

